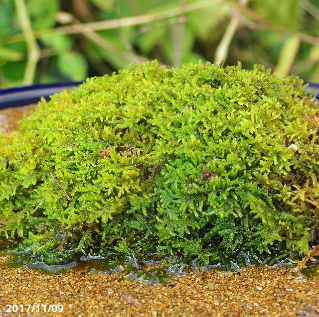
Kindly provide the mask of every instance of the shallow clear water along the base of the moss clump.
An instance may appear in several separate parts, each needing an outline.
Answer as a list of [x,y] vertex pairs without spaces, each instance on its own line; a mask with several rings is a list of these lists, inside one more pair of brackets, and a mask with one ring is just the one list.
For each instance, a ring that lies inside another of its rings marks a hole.
[[[240,271],[245,266],[277,265],[284,267],[296,267],[297,264],[289,260],[283,252],[278,252],[272,256],[264,256],[262,259],[253,258],[249,252],[235,251],[228,259],[211,265],[202,265],[196,257],[187,261],[181,261],[180,257],[172,257],[157,253],[148,253],[137,256],[133,252],[131,255],[124,255],[112,248],[108,248],[105,254],[88,254],[79,256],[66,264],[49,265],[45,263],[42,255],[33,255],[31,250],[18,251],[16,246],[18,241],[7,239],[1,243],[0,255],[5,254],[11,257],[1,265],[11,267],[29,267],[41,269],[47,273],[59,274],[69,270],[80,270],[91,274],[114,274],[123,273],[126,278],[139,281],[144,284],[165,284],[173,276],[183,276],[187,273],[198,273],[200,271],[219,270]],[[301,258],[299,258],[300,260]],[[307,268],[302,269],[305,277],[319,275],[319,260],[308,262]]]

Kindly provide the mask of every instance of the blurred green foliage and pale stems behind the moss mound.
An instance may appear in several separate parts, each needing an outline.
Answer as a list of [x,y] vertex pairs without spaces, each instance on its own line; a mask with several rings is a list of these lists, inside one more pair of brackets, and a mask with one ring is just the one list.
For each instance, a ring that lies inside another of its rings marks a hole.
[[149,59],[265,64],[319,82],[319,0],[0,0],[0,88]]

